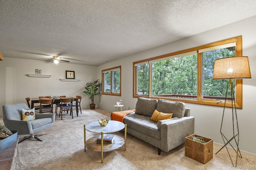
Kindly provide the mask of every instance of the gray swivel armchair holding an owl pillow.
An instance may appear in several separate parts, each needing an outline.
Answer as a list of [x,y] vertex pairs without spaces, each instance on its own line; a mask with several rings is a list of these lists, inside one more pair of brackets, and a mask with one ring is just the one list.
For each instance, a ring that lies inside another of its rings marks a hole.
[[[51,127],[55,122],[55,114],[52,113],[36,113],[36,119],[33,121],[22,121],[21,109],[30,110],[25,103],[18,103],[12,105],[4,105],[3,121],[5,127],[10,130],[18,130],[18,134],[30,134],[27,138],[35,138],[42,141],[34,135],[34,133]],[[25,138],[24,140],[26,140]],[[20,142],[22,142],[21,140]]]

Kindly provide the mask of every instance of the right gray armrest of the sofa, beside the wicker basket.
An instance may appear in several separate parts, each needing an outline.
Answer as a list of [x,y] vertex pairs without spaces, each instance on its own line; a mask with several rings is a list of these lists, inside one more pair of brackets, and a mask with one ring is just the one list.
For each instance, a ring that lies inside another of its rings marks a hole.
[[[185,138],[194,134],[195,118],[192,116],[182,117],[163,122],[161,125],[161,148],[168,152],[172,148],[185,143]],[[163,145],[163,146],[162,146]],[[164,146],[165,145],[165,146]]]

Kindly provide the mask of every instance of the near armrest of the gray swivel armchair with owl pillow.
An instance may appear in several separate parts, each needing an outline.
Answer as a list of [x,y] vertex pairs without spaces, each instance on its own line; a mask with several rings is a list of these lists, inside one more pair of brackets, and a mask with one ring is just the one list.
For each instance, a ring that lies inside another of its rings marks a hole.
[[29,121],[4,120],[4,125],[10,130],[18,130],[18,134],[32,134],[33,128]]

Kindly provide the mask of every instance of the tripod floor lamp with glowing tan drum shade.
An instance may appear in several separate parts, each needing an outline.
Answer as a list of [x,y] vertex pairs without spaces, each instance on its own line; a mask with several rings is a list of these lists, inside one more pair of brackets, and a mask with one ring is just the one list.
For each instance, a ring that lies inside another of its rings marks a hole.
[[[229,82],[227,83],[226,97],[225,97],[225,103],[224,103],[224,109],[223,109],[223,115],[222,115],[222,122],[221,122],[221,127],[220,127],[220,134],[221,134],[222,139],[224,141],[224,146],[222,148],[224,148],[226,146],[226,149],[228,151],[227,144],[230,144],[230,146],[236,152],[236,164],[237,164],[238,156],[242,158],[242,155],[241,155],[239,147],[238,147],[238,144],[239,144],[239,130],[238,130],[238,121],[237,121],[237,116],[236,116],[234,87],[233,87],[233,84],[231,82],[231,79],[243,79],[243,78],[251,78],[251,72],[250,72],[248,57],[244,57],[244,56],[241,56],[241,57],[227,57],[227,58],[221,58],[221,59],[216,59],[215,60],[212,79],[229,79]],[[232,134],[232,138],[230,138],[230,139],[226,138],[226,136],[223,133],[223,128],[222,128],[225,105],[226,105],[226,101],[227,101],[228,87],[230,87],[230,91],[231,91],[232,125],[233,125],[233,134]],[[236,128],[236,130],[235,130],[235,128]],[[236,149],[230,143],[232,140],[234,140],[235,143],[236,143],[236,146],[235,146]],[[220,148],[220,150],[222,150],[222,148]],[[218,152],[216,152],[216,154]],[[229,155],[230,160],[231,160],[231,162],[234,166],[234,163],[232,161],[232,158],[231,158],[229,152],[228,152],[228,155]]]

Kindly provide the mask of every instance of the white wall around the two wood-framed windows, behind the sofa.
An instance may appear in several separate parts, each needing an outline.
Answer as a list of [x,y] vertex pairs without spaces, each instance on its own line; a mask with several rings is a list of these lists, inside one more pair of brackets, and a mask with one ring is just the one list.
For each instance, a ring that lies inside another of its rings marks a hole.
[[[97,71],[99,79],[101,79],[101,71],[103,69],[122,65],[122,96],[115,97],[102,95],[100,108],[108,111],[115,111],[113,105],[116,101],[122,99],[122,104],[124,104],[123,110],[127,110],[129,107],[130,109],[135,109],[137,99],[132,97],[132,63],[134,61],[242,35],[243,55],[249,57],[252,79],[243,80],[243,109],[237,109],[240,132],[239,148],[240,150],[256,154],[256,135],[254,132],[256,129],[256,113],[254,109],[256,104],[255,28],[256,16],[100,65]],[[190,103],[186,103],[186,107],[191,109],[191,115],[195,117],[196,134],[212,138],[216,143],[224,144],[220,135],[223,107],[196,105]],[[232,114],[230,108],[225,110],[225,113]],[[232,134],[232,132],[229,132],[229,134]]]

